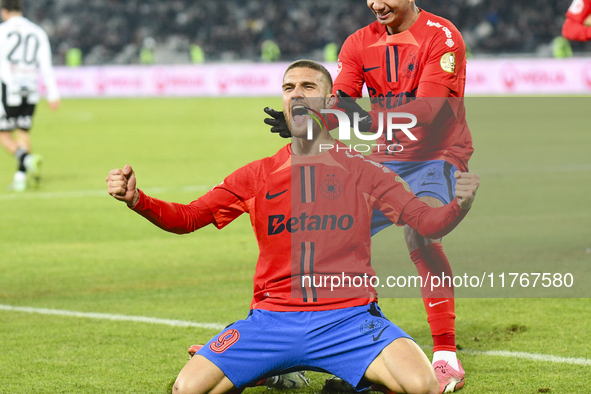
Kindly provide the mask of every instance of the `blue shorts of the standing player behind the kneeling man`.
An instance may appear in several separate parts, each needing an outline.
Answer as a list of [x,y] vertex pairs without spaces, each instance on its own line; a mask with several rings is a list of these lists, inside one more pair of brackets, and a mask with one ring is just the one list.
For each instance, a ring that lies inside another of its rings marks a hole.
[[[455,198],[458,169],[445,160],[387,161],[382,163],[404,179],[417,197],[435,197],[444,204]],[[371,235],[375,235],[393,223],[381,211],[374,210],[371,220]]]

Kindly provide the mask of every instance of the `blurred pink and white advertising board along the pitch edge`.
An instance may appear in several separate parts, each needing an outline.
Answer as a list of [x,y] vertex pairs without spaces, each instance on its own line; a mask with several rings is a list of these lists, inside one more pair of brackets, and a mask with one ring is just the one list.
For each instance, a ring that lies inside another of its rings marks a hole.
[[[56,67],[55,73],[66,98],[279,96],[287,65]],[[336,74],[337,64],[325,66]],[[467,96],[591,94],[591,58],[471,59],[466,78]]]

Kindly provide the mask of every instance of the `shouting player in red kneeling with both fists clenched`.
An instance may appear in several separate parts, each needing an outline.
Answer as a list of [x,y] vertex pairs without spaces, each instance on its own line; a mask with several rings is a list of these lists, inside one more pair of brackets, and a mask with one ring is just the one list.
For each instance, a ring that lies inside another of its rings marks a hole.
[[190,204],[147,196],[137,189],[129,165],[110,171],[109,194],[164,230],[223,228],[248,213],[259,244],[248,317],[197,352],[180,372],[174,393],[238,392],[299,370],[333,373],[357,390],[374,383],[395,392],[438,392],[428,359],[382,314],[371,284],[333,291],[322,279],[373,275],[373,209],[424,236],[447,234],[471,207],[478,176],[457,171],[456,198],[431,208],[397,174],[349,151],[319,123],[308,139],[310,113],[334,105],[331,88],[330,74],[318,63],[290,65],[283,78],[283,111],[291,144],[240,168]]

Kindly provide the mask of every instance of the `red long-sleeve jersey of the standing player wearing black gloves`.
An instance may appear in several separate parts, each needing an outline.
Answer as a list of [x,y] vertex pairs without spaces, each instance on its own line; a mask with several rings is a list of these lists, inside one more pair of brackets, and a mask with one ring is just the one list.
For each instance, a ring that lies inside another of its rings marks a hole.
[[415,97],[440,97],[441,89],[435,85],[449,89],[447,100],[434,118],[411,129],[417,141],[400,131],[388,141],[384,132],[377,145],[401,145],[403,150],[376,146],[372,159],[446,160],[466,170],[473,148],[463,101],[465,82],[466,47],[460,32],[448,20],[421,10],[407,31],[389,35],[386,27],[376,21],[349,36],[339,54],[333,90],[361,97],[365,84],[375,130],[379,124],[376,114],[428,113],[428,99],[422,100],[421,106],[407,107],[411,105],[408,103]]

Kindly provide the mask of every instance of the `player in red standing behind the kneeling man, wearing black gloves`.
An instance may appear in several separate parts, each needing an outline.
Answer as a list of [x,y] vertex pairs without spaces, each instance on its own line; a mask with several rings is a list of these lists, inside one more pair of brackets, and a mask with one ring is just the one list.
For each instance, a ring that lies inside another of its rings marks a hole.
[[[416,140],[401,132],[387,140],[383,133],[370,157],[400,175],[426,204],[442,206],[454,198],[453,173],[467,171],[473,152],[463,102],[464,41],[451,22],[417,8],[414,0],[368,0],[367,4],[377,21],[343,44],[333,87],[340,97],[337,106],[350,119],[358,114],[360,131],[381,130],[388,112],[415,115],[417,123],[410,131]],[[362,96],[364,84],[371,101],[369,113],[353,99]],[[271,131],[287,136],[281,113],[266,112],[275,118],[265,120],[274,126]],[[374,213],[372,234],[391,224],[382,213]],[[410,226],[404,232],[421,277],[451,275],[440,238],[423,237]],[[428,290],[423,288],[422,296],[433,337],[433,368],[440,391],[453,392],[463,387],[465,376],[456,357],[453,288]]]

